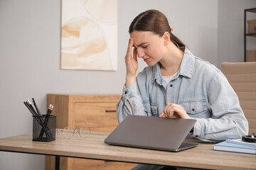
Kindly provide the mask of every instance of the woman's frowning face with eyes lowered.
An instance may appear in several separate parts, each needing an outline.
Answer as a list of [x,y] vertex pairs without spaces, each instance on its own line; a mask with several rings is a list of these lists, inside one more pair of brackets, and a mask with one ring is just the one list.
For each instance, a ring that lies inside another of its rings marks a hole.
[[164,55],[164,38],[150,31],[134,30],[130,33],[130,37],[134,41],[134,50],[137,55],[142,58],[146,64],[153,66]]

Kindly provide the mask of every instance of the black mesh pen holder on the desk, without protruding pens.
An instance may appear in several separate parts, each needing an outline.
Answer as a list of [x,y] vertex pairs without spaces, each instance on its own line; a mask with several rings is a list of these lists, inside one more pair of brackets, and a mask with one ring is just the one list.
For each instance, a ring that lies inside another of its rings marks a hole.
[[33,115],[33,141],[55,140],[56,115]]

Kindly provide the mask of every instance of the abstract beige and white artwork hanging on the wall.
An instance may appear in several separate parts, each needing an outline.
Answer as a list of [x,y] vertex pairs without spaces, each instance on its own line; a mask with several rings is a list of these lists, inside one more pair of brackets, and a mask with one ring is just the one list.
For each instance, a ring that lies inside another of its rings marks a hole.
[[62,0],[61,69],[117,70],[117,0]]

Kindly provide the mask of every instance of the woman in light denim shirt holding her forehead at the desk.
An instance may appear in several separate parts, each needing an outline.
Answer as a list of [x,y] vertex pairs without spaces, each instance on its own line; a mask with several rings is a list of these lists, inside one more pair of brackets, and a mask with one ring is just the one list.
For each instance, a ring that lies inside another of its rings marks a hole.
[[[197,121],[191,135],[199,140],[219,142],[247,135],[238,96],[223,73],[195,57],[171,31],[166,16],[156,10],[132,21],[126,83],[117,103],[119,123],[127,115],[193,118]],[[137,57],[149,67],[136,77]]]

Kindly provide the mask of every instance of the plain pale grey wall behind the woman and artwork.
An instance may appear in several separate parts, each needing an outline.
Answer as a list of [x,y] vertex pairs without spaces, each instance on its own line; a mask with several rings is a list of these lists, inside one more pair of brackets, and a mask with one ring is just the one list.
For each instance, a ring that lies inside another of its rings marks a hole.
[[[31,132],[31,114],[23,101],[32,97],[43,112],[49,93],[120,94],[129,24],[142,11],[156,8],[165,13],[174,34],[195,55],[219,66],[223,59],[243,60],[243,53],[239,53],[242,33],[237,32],[243,29],[243,18],[234,15],[248,7],[256,7],[256,1],[119,0],[118,70],[101,72],[60,69],[60,0],[1,0],[0,138]],[[226,21],[238,22],[235,31],[227,31]],[[231,46],[229,38],[234,38]],[[230,49],[234,50],[232,55]],[[145,64],[139,64],[142,70]],[[0,169],[4,170],[45,169],[44,161],[41,155],[0,152]]]

